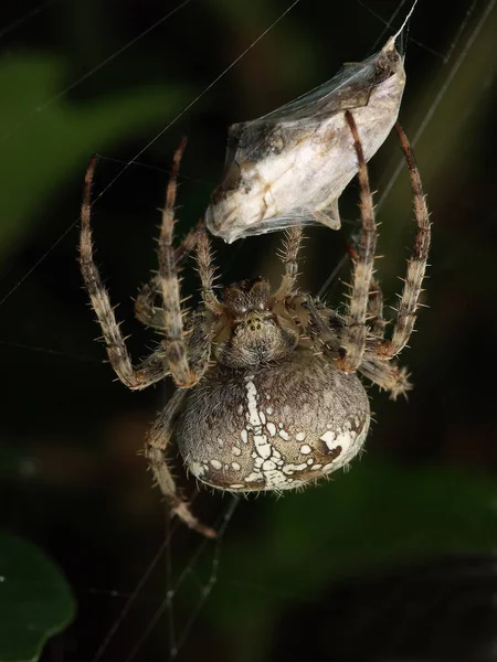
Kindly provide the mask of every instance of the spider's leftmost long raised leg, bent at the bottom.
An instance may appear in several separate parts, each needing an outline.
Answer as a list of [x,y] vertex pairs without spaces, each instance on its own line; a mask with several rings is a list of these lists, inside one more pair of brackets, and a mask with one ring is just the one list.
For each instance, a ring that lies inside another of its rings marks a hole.
[[146,388],[169,374],[167,355],[161,346],[138,366],[134,366],[125,338],[116,321],[114,308],[93,256],[91,196],[96,159],[93,158],[85,177],[81,213],[80,263],[92,307],[102,327],[107,354],[115,373],[128,388]]

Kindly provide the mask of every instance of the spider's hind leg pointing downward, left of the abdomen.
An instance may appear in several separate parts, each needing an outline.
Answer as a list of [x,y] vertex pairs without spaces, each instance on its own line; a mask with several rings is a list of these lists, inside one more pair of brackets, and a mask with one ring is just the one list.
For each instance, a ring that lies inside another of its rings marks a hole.
[[150,463],[157,484],[172,513],[178,515],[190,528],[207,537],[215,537],[215,531],[199,522],[191,512],[188,502],[178,494],[175,479],[166,460],[166,450],[171,441],[175,424],[186,395],[187,391],[184,389],[178,389],[172,395],[168,406],[147,435],[145,457]]

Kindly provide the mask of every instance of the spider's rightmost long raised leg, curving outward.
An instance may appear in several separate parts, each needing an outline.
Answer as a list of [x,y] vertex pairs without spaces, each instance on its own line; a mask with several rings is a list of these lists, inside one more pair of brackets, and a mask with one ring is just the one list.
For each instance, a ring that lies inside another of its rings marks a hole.
[[390,340],[379,343],[377,352],[382,359],[389,360],[399,354],[408,344],[414,329],[416,311],[420,306],[419,298],[422,290],[426,261],[430,250],[431,224],[426,199],[423,193],[421,177],[414,162],[409,140],[399,122],[395,125],[402,150],[408,162],[411,177],[411,188],[414,197],[414,215],[417,223],[417,232],[414,238],[414,247],[411,258],[408,260],[408,270],[404,287],[396,310],[396,321]]

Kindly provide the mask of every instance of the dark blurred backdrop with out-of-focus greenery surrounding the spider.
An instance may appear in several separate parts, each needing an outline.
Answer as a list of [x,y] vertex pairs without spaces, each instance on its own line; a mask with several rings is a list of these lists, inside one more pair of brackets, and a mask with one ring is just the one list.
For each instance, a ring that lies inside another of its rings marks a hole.
[[[104,661],[127,660],[135,647],[137,660],[168,659],[173,639],[181,660],[497,660],[497,9],[477,34],[488,2],[459,0],[442,14],[420,0],[412,20],[401,121],[412,139],[425,122],[415,153],[433,221],[430,308],[403,356],[415,389],[396,403],[370,389],[376,423],[350,473],[282,500],[243,501],[218,545],[181,526],[171,531],[137,456],[170,386],[134,394],[114,382],[104,348],[93,342],[98,329],[76,264],[82,182],[89,156],[99,152],[95,192],[109,189],[94,207],[98,260],[133,333],[134,355],[145,354],[152,335],[133,320],[131,297],[155,266],[157,207],[181,136],[189,146],[180,235],[218,182],[226,127],[378,50],[392,30],[382,35],[368,8],[387,21],[398,6],[300,0],[124,172],[287,4],[193,1],[120,54],[173,4],[59,0],[2,8],[4,519],[57,563],[78,605],[44,660],[92,660],[165,540],[167,554]],[[32,11],[31,20],[14,23]],[[390,137],[371,162],[377,201],[400,159]],[[356,202],[352,184],[346,218],[356,218]],[[379,278],[392,303],[413,234],[410,210],[402,170],[379,209]],[[309,232],[307,289],[317,291],[342,258],[350,228]],[[216,242],[224,282],[261,273],[277,278],[275,246],[275,237]],[[188,267],[183,287],[194,293]],[[347,280],[347,266],[330,288],[335,303],[340,278]],[[208,491],[194,500],[208,522],[222,521],[232,505]],[[168,588],[173,610],[165,607],[141,644]]]

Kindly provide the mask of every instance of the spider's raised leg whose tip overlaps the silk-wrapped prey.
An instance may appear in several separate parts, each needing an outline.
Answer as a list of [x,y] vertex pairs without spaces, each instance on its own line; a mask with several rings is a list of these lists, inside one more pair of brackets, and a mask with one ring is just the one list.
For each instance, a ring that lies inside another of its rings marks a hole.
[[353,260],[352,290],[346,314],[347,323],[341,337],[340,357],[337,362],[339,370],[350,373],[359,367],[366,349],[366,322],[378,233],[364,153],[356,121],[349,110],[346,111],[346,119],[353,136],[359,166],[359,207],[362,221],[362,229],[357,245],[357,259]]

